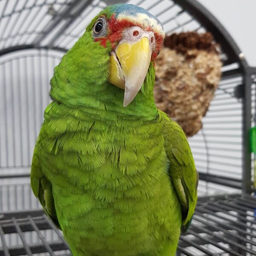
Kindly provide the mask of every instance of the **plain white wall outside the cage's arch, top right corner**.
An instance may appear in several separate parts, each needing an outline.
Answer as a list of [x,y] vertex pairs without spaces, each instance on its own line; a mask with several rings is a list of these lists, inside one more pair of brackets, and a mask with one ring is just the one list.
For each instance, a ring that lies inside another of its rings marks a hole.
[[198,0],[227,29],[256,67],[256,0]]

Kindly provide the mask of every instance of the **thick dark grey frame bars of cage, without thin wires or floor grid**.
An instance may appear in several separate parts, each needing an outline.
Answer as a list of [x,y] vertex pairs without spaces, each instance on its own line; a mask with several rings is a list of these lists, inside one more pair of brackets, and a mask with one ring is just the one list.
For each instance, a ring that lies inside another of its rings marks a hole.
[[[144,0],[141,0],[142,3]],[[54,50],[57,52],[65,53],[68,49],[61,47],[55,47],[53,42],[56,41],[62,32],[67,29],[78,17],[81,12],[89,6],[93,0],[74,0],[70,2],[69,5],[66,5],[64,10],[61,13],[53,17],[52,22],[47,27],[46,31],[39,35],[38,38],[32,44],[16,45],[13,47],[7,47],[5,49],[0,49],[0,57],[11,52],[16,52],[24,49],[46,49]],[[123,1],[125,2],[125,1]],[[243,103],[243,122],[242,122],[242,179],[233,178],[230,180],[230,177],[214,177],[214,175],[200,173],[200,179],[204,181],[212,181],[220,185],[227,185],[233,188],[241,189],[243,193],[250,193],[255,191],[252,186],[252,172],[251,172],[251,162],[252,156],[250,152],[250,136],[249,131],[252,126],[252,113],[251,113],[251,84],[253,84],[252,76],[256,75],[256,67],[250,67],[244,58],[243,52],[239,49],[236,42],[232,39],[230,34],[221,25],[221,23],[209,12],[204,6],[201,5],[198,1],[195,0],[173,0],[174,4],[177,4],[186,10],[192,17],[195,17],[201,24],[204,24],[204,27],[212,33],[215,38],[215,41],[221,44],[221,48],[227,54],[227,60],[224,61],[224,64],[230,64],[236,62],[239,64],[239,67],[235,70],[225,71],[222,73],[222,79],[228,79],[236,77],[240,74],[243,77],[242,87],[237,88],[239,97],[242,98]],[[7,1],[6,1],[7,3]],[[138,4],[140,4],[138,3]],[[71,14],[72,13],[72,14]],[[0,17],[1,18],[1,17]],[[67,20],[65,25],[55,34],[49,43],[45,46],[40,45],[40,42],[46,38],[52,30],[62,21]],[[13,177],[15,175],[0,175],[0,178],[4,177]],[[29,177],[29,175],[21,175],[22,177]],[[15,176],[20,177],[20,175]]]

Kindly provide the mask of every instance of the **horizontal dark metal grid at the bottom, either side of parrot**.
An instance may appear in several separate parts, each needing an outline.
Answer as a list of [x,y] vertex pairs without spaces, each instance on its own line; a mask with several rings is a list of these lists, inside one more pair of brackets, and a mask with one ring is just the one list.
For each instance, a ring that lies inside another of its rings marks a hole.
[[[0,237],[0,256],[71,255],[61,232],[41,210],[1,214]],[[177,255],[256,255],[256,197],[200,198]]]

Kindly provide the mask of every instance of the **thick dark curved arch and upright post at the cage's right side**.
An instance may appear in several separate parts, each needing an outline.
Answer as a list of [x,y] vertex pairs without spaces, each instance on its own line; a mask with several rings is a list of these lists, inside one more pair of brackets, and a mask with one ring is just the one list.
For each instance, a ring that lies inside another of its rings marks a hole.
[[[230,61],[233,60],[238,62],[240,67],[236,72],[241,72],[244,81],[244,87],[241,88],[241,96],[243,98],[243,166],[242,166],[242,181],[241,188],[243,193],[253,192],[255,189],[252,187],[252,175],[251,175],[251,152],[250,152],[250,128],[252,125],[252,114],[251,114],[251,84],[253,83],[252,76],[256,74],[256,67],[250,67],[244,58],[244,53],[241,52],[236,42],[221,25],[221,23],[209,12],[204,6],[198,1],[193,0],[175,0],[180,6],[190,13],[194,13],[198,18],[198,21],[204,24],[204,26],[212,33],[215,40],[220,43],[224,52],[227,52]],[[224,76],[235,76],[236,73],[226,72],[222,74]],[[207,181],[211,178],[206,178]],[[226,180],[228,182],[228,180]],[[239,182],[239,180],[237,180]]]

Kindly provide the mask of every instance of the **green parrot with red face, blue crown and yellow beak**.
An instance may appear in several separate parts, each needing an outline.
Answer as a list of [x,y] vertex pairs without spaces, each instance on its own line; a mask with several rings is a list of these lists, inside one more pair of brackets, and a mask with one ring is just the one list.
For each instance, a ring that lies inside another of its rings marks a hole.
[[31,187],[73,256],[174,256],[190,225],[192,151],[154,103],[164,37],[142,7],[108,6],[54,69]]

